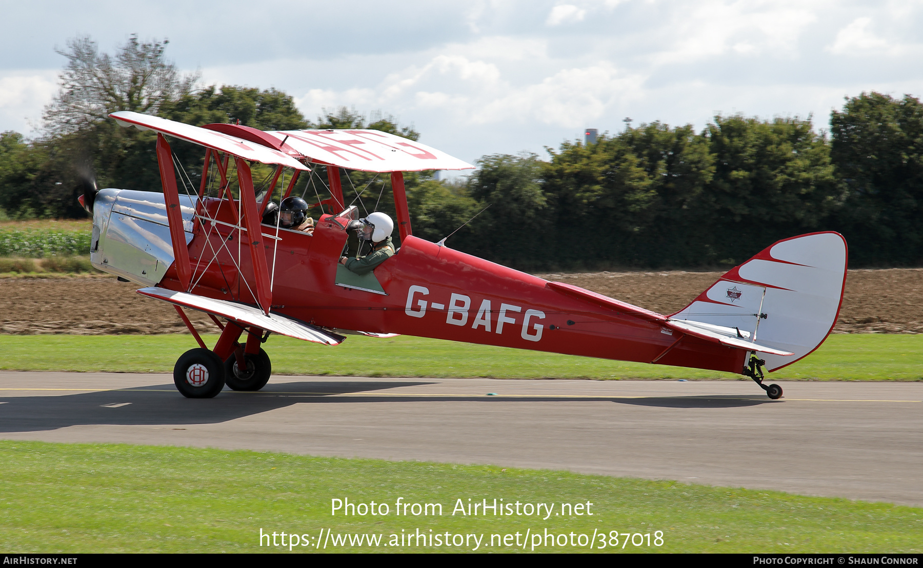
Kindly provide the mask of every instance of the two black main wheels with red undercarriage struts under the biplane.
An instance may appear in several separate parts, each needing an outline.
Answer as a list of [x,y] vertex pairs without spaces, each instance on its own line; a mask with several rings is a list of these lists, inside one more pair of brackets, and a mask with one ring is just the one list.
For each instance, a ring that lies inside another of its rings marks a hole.
[[224,385],[236,391],[258,391],[266,386],[272,364],[270,356],[259,347],[265,341],[261,337],[263,330],[250,327],[246,330],[246,343],[241,345],[237,339],[244,331],[240,325],[224,325],[214,350],[206,349],[196,333],[202,347],[189,349],[176,361],[176,389],[186,398],[212,398],[222,392]]

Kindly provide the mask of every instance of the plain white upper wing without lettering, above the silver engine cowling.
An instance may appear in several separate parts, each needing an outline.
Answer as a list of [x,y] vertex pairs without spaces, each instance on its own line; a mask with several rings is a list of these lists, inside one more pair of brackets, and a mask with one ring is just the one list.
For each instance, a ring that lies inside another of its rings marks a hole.
[[254,144],[236,136],[229,136],[222,132],[215,132],[214,130],[200,128],[191,124],[177,123],[159,116],[141,114],[140,112],[119,111],[113,112],[109,116],[123,126],[136,126],[141,130],[153,130],[167,136],[193,142],[199,146],[226,152],[244,160],[258,161],[264,164],[279,164],[295,170],[310,170],[305,164],[284,152]]

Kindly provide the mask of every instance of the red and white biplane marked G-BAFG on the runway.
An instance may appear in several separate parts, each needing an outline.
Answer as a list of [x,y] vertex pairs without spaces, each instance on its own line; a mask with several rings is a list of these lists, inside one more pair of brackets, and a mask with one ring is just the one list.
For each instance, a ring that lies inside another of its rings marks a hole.
[[[200,346],[176,361],[184,396],[216,396],[225,384],[262,388],[271,365],[261,344],[275,333],[330,346],[349,334],[405,334],[711,369],[747,375],[778,398],[782,389],[764,385],[763,370],[817,349],[839,314],[846,243],[835,232],[774,243],[683,310],[662,315],[461,253],[445,239],[414,237],[402,172],[473,168],[435,148],[375,130],[264,132],[111,116],[157,133],[163,193],[86,189],[90,260],[147,287],[138,293],[174,304]],[[175,167],[166,136],[206,148],[198,188]],[[273,169],[260,191],[256,162]],[[262,223],[275,188],[291,194],[312,164],[326,166],[330,213],[312,234]],[[361,217],[346,203],[342,170],[390,174],[401,246],[364,275],[340,264],[351,221]],[[210,314],[221,329],[213,349],[181,307]]]

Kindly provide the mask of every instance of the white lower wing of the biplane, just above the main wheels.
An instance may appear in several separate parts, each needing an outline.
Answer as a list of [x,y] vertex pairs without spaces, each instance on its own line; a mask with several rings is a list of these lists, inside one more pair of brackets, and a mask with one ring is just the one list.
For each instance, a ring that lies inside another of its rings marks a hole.
[[138,293],[149,298],[170,302],[178,306],[192,308],[206,314],[215,314],[229,321],[243,325],[256,325],[281,336],[303,339],[312,343],[339,345],[345,337],[330,333],[314,325],[300,322],[281,314],[263,314],[262,310],[243,303],[214,300],[205,296],[166,290],[163,288],[142,288]]

